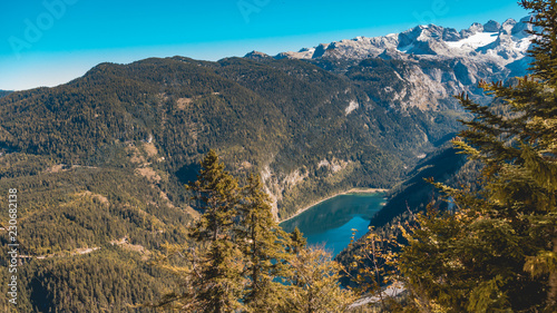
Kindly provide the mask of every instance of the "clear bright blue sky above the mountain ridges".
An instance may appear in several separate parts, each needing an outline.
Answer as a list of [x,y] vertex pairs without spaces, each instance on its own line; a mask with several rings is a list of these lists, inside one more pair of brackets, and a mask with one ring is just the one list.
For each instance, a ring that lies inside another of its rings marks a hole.
[[[302,2],[303,1],[303,2]],[[321,42],[527,14],[509,0],[27,0],[0,7],[0,89],[56,86],[99,62],[275,55]]]

